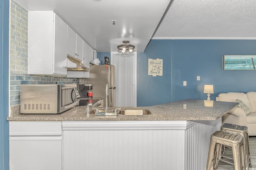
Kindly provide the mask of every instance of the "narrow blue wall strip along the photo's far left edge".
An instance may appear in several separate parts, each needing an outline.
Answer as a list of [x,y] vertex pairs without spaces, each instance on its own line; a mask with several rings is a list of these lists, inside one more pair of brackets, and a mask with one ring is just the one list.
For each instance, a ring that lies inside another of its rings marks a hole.
[[0,170],[9,169],[9,0],[0,0]]

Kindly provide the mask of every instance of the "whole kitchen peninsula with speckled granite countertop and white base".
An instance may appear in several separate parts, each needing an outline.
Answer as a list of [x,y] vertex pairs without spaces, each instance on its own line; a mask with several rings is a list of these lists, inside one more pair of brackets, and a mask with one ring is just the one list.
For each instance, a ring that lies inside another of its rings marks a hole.
[[[210,135],[220,129],[221,117],[238,105],[211,102],[210,107],[204,100],[192,99],[122,107],[151,114],[116,116],[86,116],[85,106],[44,115],[21,114],[13,108],[8,117],[10,169],[29,169],[28,164],[33,164],[38,170],[204,170]],[[33,147],[38,142],[47,158],[44,162],[40,162],[40,156],[33,156],[38,152]],[[48,149],[49,143],[55,147]],[[20,145],[26,145],[26,149]],[[27,152],[27,156],[17,162],[17,152]],[[51,168],[45,166],[46,162]]]

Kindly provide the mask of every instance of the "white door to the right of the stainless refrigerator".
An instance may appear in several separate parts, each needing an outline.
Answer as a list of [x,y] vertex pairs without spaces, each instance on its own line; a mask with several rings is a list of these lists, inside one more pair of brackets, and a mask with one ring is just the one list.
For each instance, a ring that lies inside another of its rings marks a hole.
[[116,107],[136,107],[137,53],[125,57],[111,52],[110,60],[116,66]]

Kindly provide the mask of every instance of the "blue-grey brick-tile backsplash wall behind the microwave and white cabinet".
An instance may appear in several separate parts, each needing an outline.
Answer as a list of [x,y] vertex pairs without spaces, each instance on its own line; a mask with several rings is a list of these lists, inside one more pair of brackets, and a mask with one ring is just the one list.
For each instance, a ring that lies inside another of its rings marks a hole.
[[14,0],[10,6],[10,106],[20,104],[21,84],[78,84],[66,76],[28,74],[28,10]]

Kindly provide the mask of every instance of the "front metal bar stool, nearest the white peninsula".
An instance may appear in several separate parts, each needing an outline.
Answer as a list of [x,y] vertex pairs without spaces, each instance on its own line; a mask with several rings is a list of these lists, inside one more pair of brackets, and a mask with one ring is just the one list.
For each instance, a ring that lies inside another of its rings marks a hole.
[[223,131],[216,131],[211,135],[206,170],[212,170],[212,167],[216,170],[215,158],[220,155],[222,145],[232,147],[235,170],[245,170],[244,137]]

